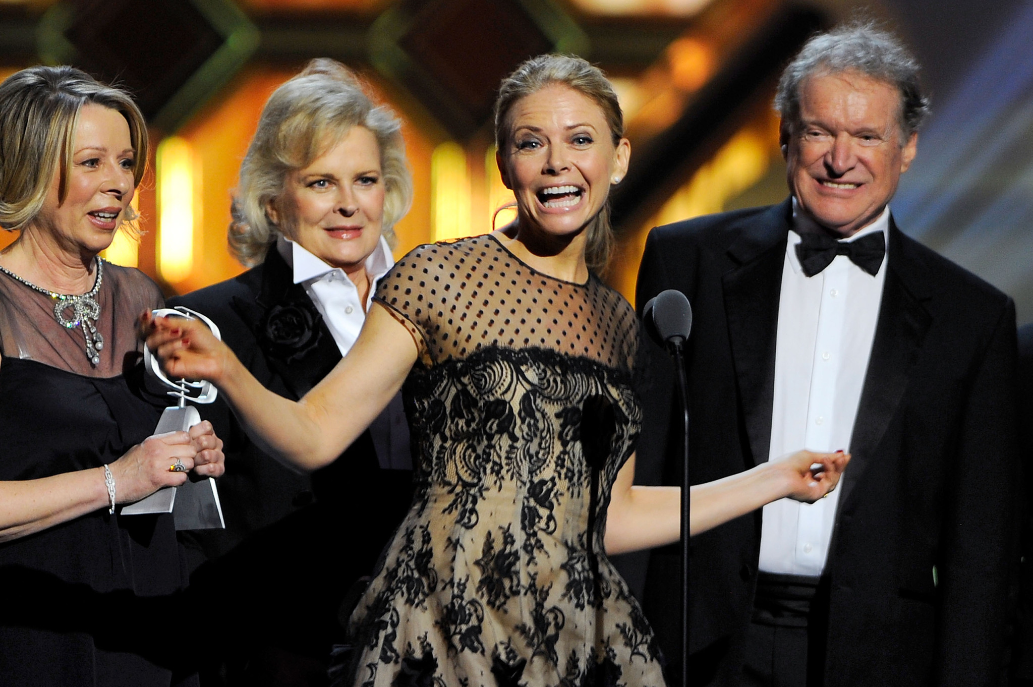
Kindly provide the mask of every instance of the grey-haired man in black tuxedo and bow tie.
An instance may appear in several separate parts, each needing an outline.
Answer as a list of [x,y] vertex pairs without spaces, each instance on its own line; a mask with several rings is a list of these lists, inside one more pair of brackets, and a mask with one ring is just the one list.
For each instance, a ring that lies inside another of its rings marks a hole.
[[[692,303],[693,483],[793,450],[852,454],[815,504],[693,538],[689,673],[706,685],[989,685],[1013,537],[1010,299],[907,238],[888,202],[928,110],[917,64],[856,23],[813,37],[776,107],[790,197],[653,229],[639,310]],[[649,344],[640,474],[681,483],[670,361]],[[677,554],[644,603],[668,657]]]

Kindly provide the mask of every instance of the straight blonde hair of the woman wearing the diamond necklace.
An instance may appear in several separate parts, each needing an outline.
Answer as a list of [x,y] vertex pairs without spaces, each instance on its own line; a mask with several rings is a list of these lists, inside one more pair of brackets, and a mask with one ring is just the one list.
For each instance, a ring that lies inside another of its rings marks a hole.
[[[74,67],[29,67],[0,84],[0,227],[30,225],[58,169],[58,200],[64,202],[75,127],[87,103],[125,117],[135,151],[133,186],[139,185],[147,165],[147,123],[129,94]],[[126,219],[135,219],[131,208]]]

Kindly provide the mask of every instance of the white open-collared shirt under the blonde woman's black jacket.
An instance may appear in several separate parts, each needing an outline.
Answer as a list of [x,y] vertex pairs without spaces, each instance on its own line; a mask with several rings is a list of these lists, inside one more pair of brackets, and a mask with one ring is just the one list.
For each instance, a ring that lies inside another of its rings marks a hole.
[[[293,271],[295,284],[301,284],[322,315],[326,327],[337,343],[341,355],[348,351],[358,338],[366,321],[366,312],[373,303],[377,282],[395,266],[390,248],[383,237],[368,258],[366,273],[370,278],[370,292],[363,304],[358,289],[340,268],[323,262],[301,244],[280,237],[276,249]],[[370,425],[370,435],[377,450],[377,460],[385,470],[411,470],[412,455],[409,446],[409,424],[402,407],[402,397],[396,395],[384,411]]]

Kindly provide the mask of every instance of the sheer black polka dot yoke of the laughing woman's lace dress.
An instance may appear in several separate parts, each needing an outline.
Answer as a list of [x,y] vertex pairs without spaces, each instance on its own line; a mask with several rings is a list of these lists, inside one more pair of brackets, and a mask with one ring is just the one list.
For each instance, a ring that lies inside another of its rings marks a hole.
[[419,246],[381,280],[376,300],[413,335],[427,365],[492,346],[544,348],[630,373],[631,306],[590,275],[566,282],[525,264],[491,235]]

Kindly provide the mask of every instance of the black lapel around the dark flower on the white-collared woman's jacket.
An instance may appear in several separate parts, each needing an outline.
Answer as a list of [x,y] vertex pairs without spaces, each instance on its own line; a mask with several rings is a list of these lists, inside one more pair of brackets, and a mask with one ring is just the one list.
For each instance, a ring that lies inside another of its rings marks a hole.
[[[254,301],[234,298],[232,304],[259,341],[263,337],[265,315],[273,306],[289,302],[311,303],[305,287],[294,283],[290,267],[275,246],[270,248],[262,267],[261,285]],[[287,360],[286,356],[265,352],[270,367],[279,373],[287,388],[299,399],[326,376],[341,360],[337,342],[321,316],[317,316],[315,327],[319,331],[316,344],[303,355]]]

